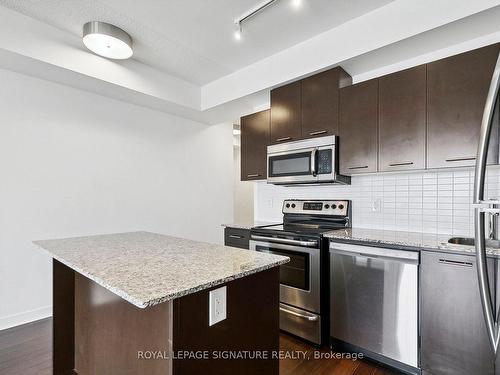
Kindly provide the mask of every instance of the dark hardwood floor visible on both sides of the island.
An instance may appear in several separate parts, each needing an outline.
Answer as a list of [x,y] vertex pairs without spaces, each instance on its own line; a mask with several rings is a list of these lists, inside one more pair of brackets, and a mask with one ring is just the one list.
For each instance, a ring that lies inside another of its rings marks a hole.
[[[52,375],[52,320],[44,319],[0,331],[0,374]],[[314,347],[285,334],[280,337],[285,353],[307,352],[298,359],[282,359],[280,375],[393,375],[388,369],[367,361],[313,359]],[[329,353],[329,348],[319,350]],[[303,357],[310,357],[306,359]]]

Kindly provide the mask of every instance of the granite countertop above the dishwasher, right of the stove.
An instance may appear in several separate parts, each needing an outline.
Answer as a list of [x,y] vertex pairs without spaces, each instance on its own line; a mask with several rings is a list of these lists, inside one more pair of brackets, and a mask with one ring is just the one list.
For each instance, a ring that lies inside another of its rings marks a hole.
[[[476,251],[474,246],[449,244],[448,239],[453,236],[447,234],[346,228],[333,230],[325,236],[341,242],[389,245],[408,250],[444,251],[470,255],[474,255]],[[487,247],[486,253],[490,256],[500,256],[500,249]]]

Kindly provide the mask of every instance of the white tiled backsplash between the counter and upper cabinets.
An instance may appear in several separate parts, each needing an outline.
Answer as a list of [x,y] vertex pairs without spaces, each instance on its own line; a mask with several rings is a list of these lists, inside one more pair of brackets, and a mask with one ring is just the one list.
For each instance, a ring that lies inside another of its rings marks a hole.
[[[473,236],[474,171],[442,169],[352,177],[351,185],[255,185],[255,216],[279,221],[287,198],[350,199],[353,227]],[[500,169],[488,167],[486,197],[500,197]]]

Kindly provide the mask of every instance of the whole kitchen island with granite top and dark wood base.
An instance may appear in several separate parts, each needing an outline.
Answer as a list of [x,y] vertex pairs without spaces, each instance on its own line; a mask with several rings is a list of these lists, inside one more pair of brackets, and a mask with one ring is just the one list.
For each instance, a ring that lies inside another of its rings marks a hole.
[[278,374],[287,257],[148,232],[35,244],[53,258],[54,375]]

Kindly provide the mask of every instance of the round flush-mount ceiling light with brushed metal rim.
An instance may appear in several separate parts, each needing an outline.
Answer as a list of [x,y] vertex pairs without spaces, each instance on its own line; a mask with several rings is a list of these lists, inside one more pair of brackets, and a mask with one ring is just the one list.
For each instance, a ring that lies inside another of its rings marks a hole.
[[133,54],[130,35],[106,22],[90,21],[83,25],[83,44],[108,59],[124,60]]

